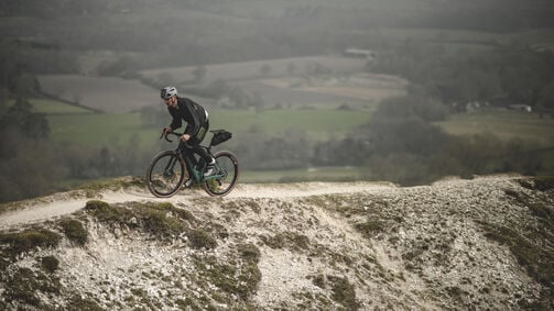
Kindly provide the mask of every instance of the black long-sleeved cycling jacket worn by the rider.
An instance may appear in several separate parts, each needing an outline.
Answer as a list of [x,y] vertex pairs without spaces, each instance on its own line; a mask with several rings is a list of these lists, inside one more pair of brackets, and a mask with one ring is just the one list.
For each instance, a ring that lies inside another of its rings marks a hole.
[[[177,107],[167,107],[173,121],[170,126],[176,130],[183,125],[182,120],[185,120],[186,129],[185,134],[191,135],[191,137],[197,137],[202,141],[206,134],[208,124],[208,113],[198,103],[192,101],[188,98],[177,97]],[[200,129],[203,129],[200,131]]]

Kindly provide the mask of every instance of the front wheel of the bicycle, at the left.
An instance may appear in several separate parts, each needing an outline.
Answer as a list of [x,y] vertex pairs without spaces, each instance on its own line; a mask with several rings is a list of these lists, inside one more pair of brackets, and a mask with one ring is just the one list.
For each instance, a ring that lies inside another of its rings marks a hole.
[[159,153],[146,171],[146,185],[152,195],[169,198],[175,195],[187,177],[186,166],[174,151]]

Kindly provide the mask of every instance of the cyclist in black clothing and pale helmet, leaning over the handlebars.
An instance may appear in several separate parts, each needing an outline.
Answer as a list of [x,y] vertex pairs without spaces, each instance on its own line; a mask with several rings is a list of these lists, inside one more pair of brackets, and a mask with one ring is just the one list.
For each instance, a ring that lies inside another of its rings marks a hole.
[[177,97],[177,89],[175,87],[165,87],[162,89],[161,97],[167,105],[173,121],[170,126],[163,127],[163,134],[173,132],[182,126],[182,120],[185,120],[186,129],[181,141],[186,142],[194,153],[199,155],[206,163],[206,170],[204,176],[209,176],[214,173],[216,160],[209,153],[200,146],[204,136],[209,129],[208,112],[198,103],[188,98]]

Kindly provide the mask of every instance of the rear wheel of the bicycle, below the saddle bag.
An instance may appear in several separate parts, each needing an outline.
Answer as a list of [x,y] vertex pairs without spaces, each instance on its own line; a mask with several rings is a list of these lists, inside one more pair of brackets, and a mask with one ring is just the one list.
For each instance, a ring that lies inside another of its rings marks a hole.
[[214,154],[216,159],[215,176],[204,181],[203,187],[208,195],[213,197],[222,197],[228,195],[239,177],[239,162],[237,157],[227,151]]

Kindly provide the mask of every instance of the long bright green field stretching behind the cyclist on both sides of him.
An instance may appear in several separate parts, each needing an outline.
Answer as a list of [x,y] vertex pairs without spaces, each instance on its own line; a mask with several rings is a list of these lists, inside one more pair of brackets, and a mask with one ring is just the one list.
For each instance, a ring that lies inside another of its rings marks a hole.
[[[351,129],[367,123],[367,111],[338,110],[251,110],[214,109],[209,112],[213,130],[226,129],[233,134],[259,133],[267,136],[285,136],[287,130],[304,131],[309,138],[327,138],[345,135]],[[55,141],[76,142],[86,145],[124,145],[131,138],[138,144],[157,142],[160,126],[142,125],[140,113],[47,115],[51,137]],[[207,136],[207,140],[210,136]]]

